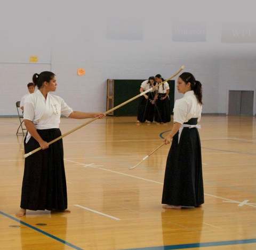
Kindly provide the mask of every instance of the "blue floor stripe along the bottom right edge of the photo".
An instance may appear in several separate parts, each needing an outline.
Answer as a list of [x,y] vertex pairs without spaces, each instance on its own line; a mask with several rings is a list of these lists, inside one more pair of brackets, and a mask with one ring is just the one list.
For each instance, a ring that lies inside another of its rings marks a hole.
[[206,242],[206,243],[191,243],[191,244],[180,244],[180,245],[169,245],[169,246],[127,248],[127,249],[122,249],[122,250],[171,250],[171,249],[185,249],[185,248],[210,247],[210,246],[227,246],[227,245],[250,244],[250,243],[256,243],[256,239],[241,239],[241,240],[214,241],[214,242]]

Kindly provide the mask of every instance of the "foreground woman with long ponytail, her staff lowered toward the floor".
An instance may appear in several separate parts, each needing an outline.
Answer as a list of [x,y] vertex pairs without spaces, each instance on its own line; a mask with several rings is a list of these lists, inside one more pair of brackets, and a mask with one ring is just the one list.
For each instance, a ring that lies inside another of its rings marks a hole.
[[183,72],[177,85],[183,98],[175,101],[173,129],[164,139],[170,143],[164,176],[163,208],[201,207],[204,203],[201,142],[197,122],[202,112],[202,85]]

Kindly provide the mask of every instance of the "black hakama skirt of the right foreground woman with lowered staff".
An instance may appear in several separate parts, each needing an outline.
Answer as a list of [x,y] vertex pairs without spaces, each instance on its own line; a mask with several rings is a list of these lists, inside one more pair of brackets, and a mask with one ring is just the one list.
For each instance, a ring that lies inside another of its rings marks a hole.
[[[197,124],[197,118],[188,121]],[[167,157],[162,204],[198,206],[204,203],[201,142],[197,128],[184,127],[172,139]]]

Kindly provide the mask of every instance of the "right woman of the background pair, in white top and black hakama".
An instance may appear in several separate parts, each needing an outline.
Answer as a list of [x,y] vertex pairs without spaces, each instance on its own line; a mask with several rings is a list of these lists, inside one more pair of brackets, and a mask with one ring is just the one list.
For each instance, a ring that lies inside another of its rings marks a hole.
[[[156,75],[156,82],[160,84],[164,81],[161,75]],[[169,123],[171,122],[170,112],[170,99],[169,99],[170,87],[167,82],[158,86],[155,95],[155,122],[157,123]]]

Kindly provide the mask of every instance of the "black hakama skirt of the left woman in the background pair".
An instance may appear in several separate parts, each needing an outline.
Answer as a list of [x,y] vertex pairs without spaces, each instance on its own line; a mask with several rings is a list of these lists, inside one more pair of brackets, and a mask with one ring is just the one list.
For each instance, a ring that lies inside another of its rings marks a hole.
[[145,96],[143,95],[139,97],[137,119],[141,123],[144,123],[146,120],[153,123],[155,105],[152,104],[152,101],[154,100],[154,94],[150,92],[150,93],[146,93],[146,95],[149,96],[148,99],[146,99]]

